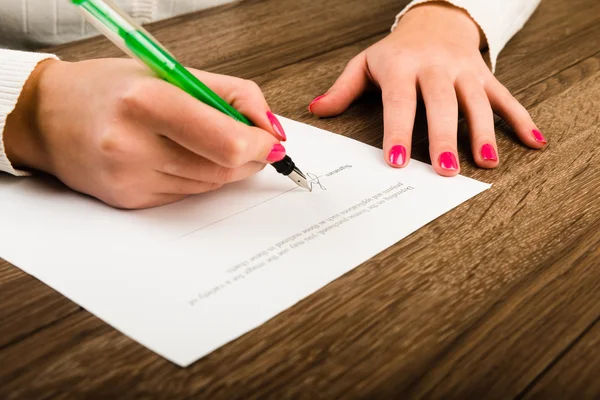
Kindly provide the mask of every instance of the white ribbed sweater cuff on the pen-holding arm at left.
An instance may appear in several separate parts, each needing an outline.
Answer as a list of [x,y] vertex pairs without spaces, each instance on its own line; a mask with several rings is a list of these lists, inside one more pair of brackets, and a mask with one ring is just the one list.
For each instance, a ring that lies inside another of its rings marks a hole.
[[4,150],[4,127],[8,115],[15,109],[23,86],[43,60],[56,59],[52,54],[29,53],[0,49],[0,172],[26,176],[27,172],[13,168]]

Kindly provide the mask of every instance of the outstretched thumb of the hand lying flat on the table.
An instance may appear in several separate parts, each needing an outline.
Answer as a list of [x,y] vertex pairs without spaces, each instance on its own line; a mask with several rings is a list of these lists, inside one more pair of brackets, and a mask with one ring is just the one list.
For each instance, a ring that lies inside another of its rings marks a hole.
[[354,57],[327,93],[317,96],[308,111],[319,117],[339,115],[356,100],[370,83],[366,53]]

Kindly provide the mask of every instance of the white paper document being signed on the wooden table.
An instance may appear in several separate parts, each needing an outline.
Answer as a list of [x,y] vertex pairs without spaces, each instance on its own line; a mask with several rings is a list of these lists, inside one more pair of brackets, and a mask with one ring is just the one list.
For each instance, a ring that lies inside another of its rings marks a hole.
[[313,191],[267,166],[212,193],[116,210],[0,176],[0,257],[187,366],[489,188],[281,118]]

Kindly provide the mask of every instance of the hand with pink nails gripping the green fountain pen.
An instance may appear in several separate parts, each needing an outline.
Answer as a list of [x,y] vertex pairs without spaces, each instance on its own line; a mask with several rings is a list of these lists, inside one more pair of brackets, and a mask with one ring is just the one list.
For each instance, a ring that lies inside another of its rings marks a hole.
[[127,209],[219,188],[285,156],[283,128],[255,83],[190,71],[256,127],[133,60],[48,60],[38,65],[7,119],[7,156],[17,168],[47,172]]

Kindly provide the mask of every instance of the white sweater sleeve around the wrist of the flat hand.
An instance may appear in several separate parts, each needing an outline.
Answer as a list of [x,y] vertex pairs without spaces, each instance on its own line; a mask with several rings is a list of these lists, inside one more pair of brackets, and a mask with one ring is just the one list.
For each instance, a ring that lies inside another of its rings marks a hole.
[[[417,4],[433,0],[413,0],[398,16],[392,30],[400,18]],[[479,25],[487,40],[492,64],[496,70],[496,60],[506,43],[525,25],[541,0],[443,0],[465,10]]]

